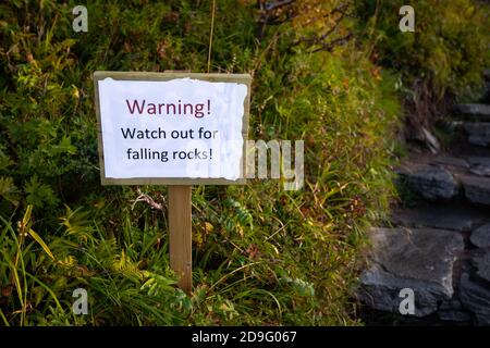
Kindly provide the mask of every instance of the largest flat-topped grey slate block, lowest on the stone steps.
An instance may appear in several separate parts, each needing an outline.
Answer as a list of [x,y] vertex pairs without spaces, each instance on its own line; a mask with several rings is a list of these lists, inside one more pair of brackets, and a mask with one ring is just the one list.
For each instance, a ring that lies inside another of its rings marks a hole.
[[399,312],[403,288],[415,294],[415,315],[437,311],[453,295],[452,273],[464,248],[454,232],[432,228],[372,228],[370,266],[362,277],[359,298],[377,310]]

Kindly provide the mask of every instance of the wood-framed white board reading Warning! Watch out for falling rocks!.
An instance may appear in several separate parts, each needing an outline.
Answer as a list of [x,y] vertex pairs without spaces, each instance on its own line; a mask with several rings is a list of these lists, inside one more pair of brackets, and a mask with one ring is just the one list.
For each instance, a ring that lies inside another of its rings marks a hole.
[[96,72],[102,184],[241,184],[248,75]]

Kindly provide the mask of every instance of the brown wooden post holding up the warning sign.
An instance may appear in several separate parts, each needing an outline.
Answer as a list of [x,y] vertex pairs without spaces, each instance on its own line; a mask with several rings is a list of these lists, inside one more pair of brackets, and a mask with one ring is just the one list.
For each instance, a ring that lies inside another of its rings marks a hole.
[[181,274],[179,287],[193,288],[192,186],[169,186],[170,266]]

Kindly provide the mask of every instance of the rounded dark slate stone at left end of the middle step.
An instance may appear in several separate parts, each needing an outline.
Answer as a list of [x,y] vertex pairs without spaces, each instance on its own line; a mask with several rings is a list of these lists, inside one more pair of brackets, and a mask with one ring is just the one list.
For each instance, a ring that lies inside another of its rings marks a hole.
[[412,189],[426,199],[451,199],[458,192],[457,182],[442,166],[425,163],[406,163],[397,172]]

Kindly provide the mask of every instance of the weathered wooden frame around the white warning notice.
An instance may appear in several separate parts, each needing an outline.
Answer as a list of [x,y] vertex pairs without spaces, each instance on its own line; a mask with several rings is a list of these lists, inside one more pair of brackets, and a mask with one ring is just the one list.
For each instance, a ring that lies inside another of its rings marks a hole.
[[[247,86],[247,96],[244,101],[244,115],[242,120],[242,166],[240,178],[230,181],[225,178],[187,178],[187,177],[133,177],[133,178],[114,178],[106,177],[105,160],[103,160],[103,141],[102,141],[102,123],[100,116],[99,103],[99,80],[107,77],[115,80],[171,80],[175,78],[193,78],[206,82],[217,83],[237,83]],[[246,163],[247,151],[246,142],[248,139],[248,120],[250,111],[250,85],[252,76],[248,74],[203,74],[203,73],[149,73],[149,72],[109,72],[99,71],[94,73],[94,89],[95,89],[95,107],[97,114],[97,139],[98,152],[100,163],[100,182],[102,185],[244,185],[246,184]]]

